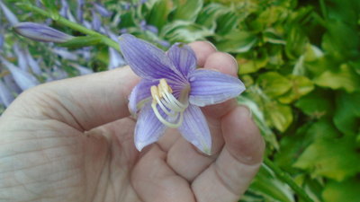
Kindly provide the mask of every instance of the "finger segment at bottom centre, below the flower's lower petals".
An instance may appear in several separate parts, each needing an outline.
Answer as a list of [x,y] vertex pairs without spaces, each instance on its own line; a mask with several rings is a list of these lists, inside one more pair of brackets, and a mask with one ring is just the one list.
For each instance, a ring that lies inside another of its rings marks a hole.
[[166,164],[166,154],[152,145],[135,165],[131,183],[142,201],[194,201],[189,183]]

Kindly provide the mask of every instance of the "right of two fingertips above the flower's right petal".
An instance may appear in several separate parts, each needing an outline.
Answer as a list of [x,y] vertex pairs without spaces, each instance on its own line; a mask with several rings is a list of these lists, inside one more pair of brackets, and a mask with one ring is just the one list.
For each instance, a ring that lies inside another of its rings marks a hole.
[[238,62],[229,53],[212,53],[207,57],[204,68],[215,69],[227,75],[238,76]]

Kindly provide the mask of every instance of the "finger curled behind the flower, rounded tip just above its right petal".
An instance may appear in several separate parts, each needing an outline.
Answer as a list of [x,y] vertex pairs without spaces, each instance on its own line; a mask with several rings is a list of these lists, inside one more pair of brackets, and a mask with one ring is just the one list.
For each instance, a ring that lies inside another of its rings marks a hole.
[[[204,68],[216,69],[224,74],[236,75],[238,65],[229,54],[212,52],[204,61]],[[202,111],[207,117],[211,131],[211,154],[213,155],[202,154],[184,138],[178,138],[167,154],[167,163],[171,168],[189,181],[192,181],[199,173],[205,170],[219,154],[224,142],[220,117],[228,113],[229,110],[233,110],[236,106],[237,102],[233,99],[203,108]],[[178,132],[175,134],[175,136],[179,136]]]

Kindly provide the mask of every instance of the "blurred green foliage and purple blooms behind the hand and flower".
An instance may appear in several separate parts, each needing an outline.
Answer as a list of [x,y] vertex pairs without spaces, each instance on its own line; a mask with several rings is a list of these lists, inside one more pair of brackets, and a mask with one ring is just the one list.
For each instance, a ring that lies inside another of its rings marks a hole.
[[[360,201],[359,1],[3,0],[0,7],[1,110],[33,85],[124,66],[121,33],[160,48],[210,40],[238,60],[247,85],[238,102],[252,109],[267,143],[241,201]],[[12,30],[17,22],[46,23],[76,40],[28,40]]]

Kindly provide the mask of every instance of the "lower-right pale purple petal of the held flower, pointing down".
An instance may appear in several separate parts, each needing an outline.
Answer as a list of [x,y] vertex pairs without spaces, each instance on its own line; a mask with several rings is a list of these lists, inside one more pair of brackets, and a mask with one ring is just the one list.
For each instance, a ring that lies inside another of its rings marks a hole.
[[211,154],[211,134],[202,110],[194,105],[184,111],[184,122],[178,128],[184,138],[205,154]]

